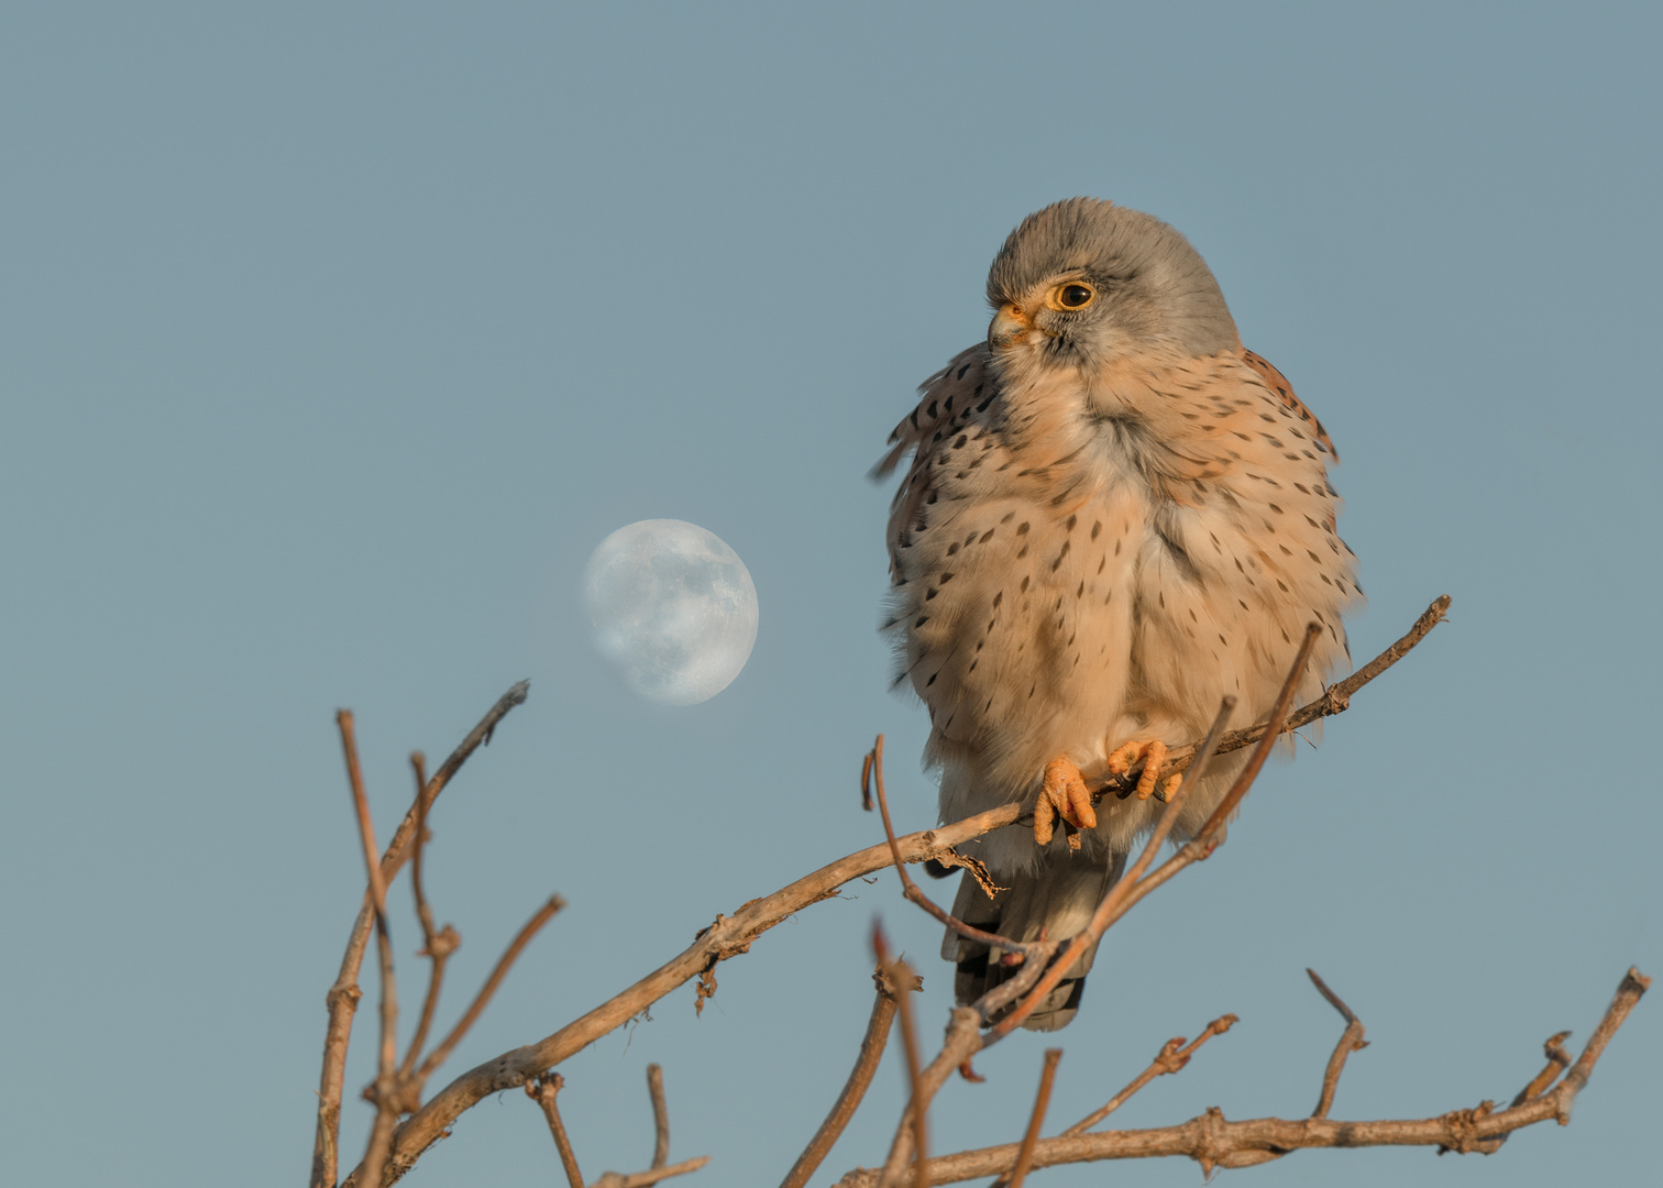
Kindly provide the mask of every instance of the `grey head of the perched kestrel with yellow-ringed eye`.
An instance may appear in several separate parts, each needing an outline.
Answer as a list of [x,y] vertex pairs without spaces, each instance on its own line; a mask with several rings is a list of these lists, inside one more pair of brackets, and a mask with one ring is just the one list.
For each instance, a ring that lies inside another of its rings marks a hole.
[[1099,198],[1069,198],[1024,218],[988,271],[988,303],[994,353],[1039,366],[1098,368],[1241,344],[1219,283],[1189,240]]

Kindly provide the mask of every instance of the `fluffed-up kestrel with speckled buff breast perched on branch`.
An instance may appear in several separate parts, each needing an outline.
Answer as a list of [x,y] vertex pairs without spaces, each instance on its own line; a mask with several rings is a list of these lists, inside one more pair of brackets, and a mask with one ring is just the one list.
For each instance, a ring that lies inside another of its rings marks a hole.
[[[1344,617],[1364,594],[1337,534],[1334,443],[1242,346],[1179,231],[1099,198],[1053,203],[1004,240],[986,296],[986,339],[920,386],[873,468],[910,456],[885,631],[896,686],[928,709],[941,820],[1034,807],[1031,830],[961,847],[984,877],[963,872],[953,915],[1061,942],[1159,820],[1164,752],[1201,739],[1226,695],[1231,727],[1264,720],[1310,622],[1297,695],[1320,694],[1350,667]],[[1244,760],[1216,759],[1174,842]],[[1137,795],[1093,807],[1089,780],[1137,764]],[[953,928],[941,955],[960,1003],[1021,963]],[[1023,1025],[1068,1025],[1094,958],[1091,945]]]

